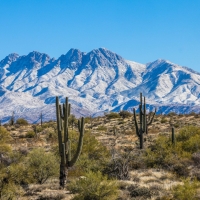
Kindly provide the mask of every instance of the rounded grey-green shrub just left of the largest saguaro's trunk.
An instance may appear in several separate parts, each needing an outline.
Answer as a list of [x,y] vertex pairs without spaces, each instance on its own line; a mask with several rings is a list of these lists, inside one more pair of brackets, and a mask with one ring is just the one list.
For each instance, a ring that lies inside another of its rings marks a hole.
[[59,165],[57,158],[44,149],[34,149],[27,155],[27,170],[31,181],[39,184],[45,183],[50,177],[58,175]]

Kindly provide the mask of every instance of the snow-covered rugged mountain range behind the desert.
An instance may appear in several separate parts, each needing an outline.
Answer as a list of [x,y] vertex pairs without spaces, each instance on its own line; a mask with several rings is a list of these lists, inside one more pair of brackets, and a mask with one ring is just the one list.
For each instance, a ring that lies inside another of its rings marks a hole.
[[67,96],[75,115],[131,110],[142,92],[162,112],[200,111],[200,74],[166,60],[146,65],[123,59],[105,48],[83,53],[70,49],[58,59],[31,52],[0,61],[0,118],[25,117],[36,122],[43,113],[55,119],[55,96]]

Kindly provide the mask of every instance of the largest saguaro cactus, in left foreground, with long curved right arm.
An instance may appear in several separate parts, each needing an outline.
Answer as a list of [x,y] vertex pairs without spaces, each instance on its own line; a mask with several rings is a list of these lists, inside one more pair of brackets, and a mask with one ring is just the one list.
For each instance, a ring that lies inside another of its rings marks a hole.
[[69,127],[68,118],[70,115],[70,104],[68,103],[68,98],[66,97],[65,103],[61,106],[59,104],[59,98],[56,97],[56,117],[57,117],[57,130],[58,130],[58,144],[59,153],[61,157],[60,162],[60,186],[64,187],[68,168],[72,167],[82,150],[83,146],[83,135],[84,135],[84,118],[78,120],[78,131],[80,133],[79,142],[76,149],[76,153],[71,158],[71,141],[69,139]]

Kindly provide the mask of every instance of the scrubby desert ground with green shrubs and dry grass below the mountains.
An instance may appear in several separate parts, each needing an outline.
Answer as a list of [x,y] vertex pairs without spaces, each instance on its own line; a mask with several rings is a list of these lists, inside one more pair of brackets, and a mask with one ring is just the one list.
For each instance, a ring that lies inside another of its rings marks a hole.
[[[200,118],[176,113],[154,118],[140,150],[133,116],[109,113],[92,118],[92,124],[88,117],[81,155],[63,190],[56,122],[0,126],[0,198],[199,199]],[[69,124],[68,134],[74,155],[77,123]]]

